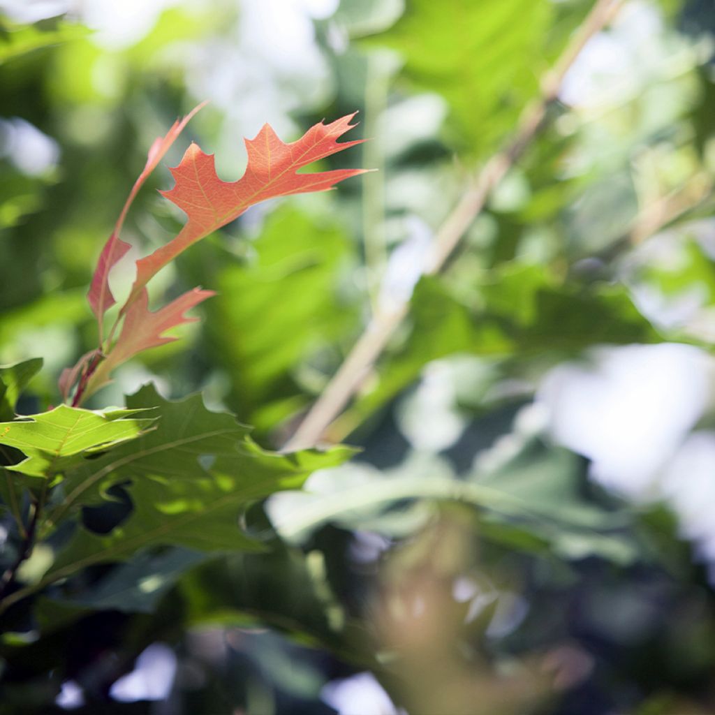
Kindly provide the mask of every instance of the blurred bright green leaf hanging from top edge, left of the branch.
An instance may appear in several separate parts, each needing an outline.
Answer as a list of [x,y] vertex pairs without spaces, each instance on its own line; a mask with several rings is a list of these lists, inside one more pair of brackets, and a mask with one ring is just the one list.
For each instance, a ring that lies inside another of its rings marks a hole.
[[408,85],[442,94],[453,139],[483,154],[511,132],[538,94],[548,66],[543,38],[555,15],[548,0],[410,0],[398,22],[369,44],[398,50]]

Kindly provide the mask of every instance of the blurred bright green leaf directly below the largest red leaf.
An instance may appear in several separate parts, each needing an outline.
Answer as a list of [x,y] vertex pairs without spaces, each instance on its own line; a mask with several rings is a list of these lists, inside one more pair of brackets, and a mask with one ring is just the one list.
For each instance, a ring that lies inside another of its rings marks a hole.
[[232,260],[220,270],[205,330],[230,371],[228,403],[266,429],[305,403],[297,365],[311,350],[350,335],[357,316],[338,295],[350,251],[332,219],[280,207],[251,253],[244,265]]

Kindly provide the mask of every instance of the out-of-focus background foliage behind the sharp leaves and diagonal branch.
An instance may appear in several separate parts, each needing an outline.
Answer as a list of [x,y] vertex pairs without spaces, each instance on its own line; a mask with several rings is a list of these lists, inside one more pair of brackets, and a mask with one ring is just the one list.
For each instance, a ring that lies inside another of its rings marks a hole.
[[[363,451],[247,513],[265,552],[147,551],[37,599],[4,624],[0,712],[715,713],[712,3],[627,0],[418,280],[590,7],[0,0],[0,363],[45,365],[24,413],[94,345],[99,250],[204,99],[168,165],[196,139],[236,179],[264,122],[293,139],[358,109],[370,142],[326,164],[379,171],[250,209],[164,270],[157,302],[218,295],[94,406],[202,390],[279,447],[371,313],[412,296],[331,428]],[[139,194],[130,257],[181,225],[170,182]]]

